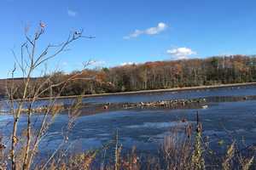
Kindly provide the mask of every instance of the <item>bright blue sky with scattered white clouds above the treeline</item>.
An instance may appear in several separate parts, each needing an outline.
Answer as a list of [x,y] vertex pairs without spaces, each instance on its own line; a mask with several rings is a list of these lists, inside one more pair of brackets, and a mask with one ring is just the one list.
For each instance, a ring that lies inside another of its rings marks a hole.
[[92,67],[111,67],[256,54],[255,7],[255,0],[0,0],[0,78],[14,67],[12,50],[19,56],[25,27],[32,33],[40,21],[38,53],[70,31],[96,37],[73,42],[49,60],[49,70],[79,70],[90,59]]

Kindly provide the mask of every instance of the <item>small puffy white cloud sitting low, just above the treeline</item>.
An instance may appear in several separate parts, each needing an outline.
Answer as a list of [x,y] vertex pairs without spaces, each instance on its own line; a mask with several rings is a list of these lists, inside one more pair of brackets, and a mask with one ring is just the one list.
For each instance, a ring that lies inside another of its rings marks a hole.
[[196,54],[191,48],[172,48],[166,51],[176,59],[188,59],[190,55]]

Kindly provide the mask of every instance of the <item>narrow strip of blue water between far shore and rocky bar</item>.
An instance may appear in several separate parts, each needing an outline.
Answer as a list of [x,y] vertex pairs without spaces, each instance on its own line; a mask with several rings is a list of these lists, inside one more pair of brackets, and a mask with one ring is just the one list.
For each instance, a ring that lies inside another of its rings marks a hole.
[[[174,92],[154,92],[148,94],[121,94],[121,95],[106,95],[88,97],[83,99],[84,104],[96,105],[102,103],[137,103],[137,102],[150,102],[158,100],[169,99],[195,99],[206,97],[224,97],[224,96],[247,96],[256,95],[256,86],[241,86],[233,88],[210,88],[210,89],[198,89],[198,90],[184,90]],[[74,99],[57,99],[56,103],[64,105],[73,104]],[[34,107],[42,105],[48,105],[48,100],[42,99],[34,103]],[[0,111],[8,111],[9,104],[6,101],[0,99]]]

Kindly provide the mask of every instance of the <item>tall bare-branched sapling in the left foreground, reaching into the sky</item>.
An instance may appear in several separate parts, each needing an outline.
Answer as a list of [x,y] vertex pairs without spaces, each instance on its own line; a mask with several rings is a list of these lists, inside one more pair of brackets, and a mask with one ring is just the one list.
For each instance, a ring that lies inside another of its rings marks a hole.
[[[34,80],[32,75],[34,71],[37,71],[41,65],[44,65],[49,61],[49,59],[55,58],[58,54],[63,53],[67,50],[69,44],[79,40],[83,36],[83,30],[74,31],[69,34],[67,40],[61,42],[60,44],[51,44],[43,49],[41,53],[36,53],[38,48],[38,42],[40,37],[44,35],[46,25],[43,22],[39,23],[38,29],[34,32],[32,36],[28,34],[28,29],[25,31],[26,42],[22,43],[20,46],[20,56],[18,57],[15,52],[13,54],[15,56],[15,68],[11,72],[11,82],[7,84],[7,94],[9,96],[9,106],[10,112],[14,116],[13,122],[13,130],[12,130],[12,140],[11,140],[11,148],[10,148],[10,159],[11,159],[11,167],[12,169],[22,168],[22,169],[30,169],[32,166],[32,161],[34,156],[36,155],[38,144],[40,140],[44,137],[46,130],[53,120],[53,117],[61,111],[61,107],[59,105],[55,105],[55,101],[58,96],[61,95],[61,90],[65,88],[67,82],[71,81],[73,78],[77,77],[77,75],[73,75],[73,77],[68,77],[66,80],[62,82],[53,83],[51,82],[51,76],[45,78],[38,78],[38,80]],[[85,38],[93,38],[93,37],[85,37]],[[18,88],[15,86],[15,72],[20,70],[23,75],[22,81],[22,90],[20,99],[15,99],[15,94],[18,93]],[[37,81],[40,81],[38,85],[35,87]],[[53,88],[61,87],[61,90],[57,93],[53,93]],[[32,135],[32,115],[35,112],[35,102],[37,102],[38,98],[41,94],[45,92],[49,93],[49,104],[44,108],[43,115],[44,118],[41,122],[41,125],[38,131],[35,132],[35,135]],[[20,114],[22,112],[26,112],[27,122],[26,122],[26,144],[23,146],[24,148],[24,156],[21,161],[21,165],[18,166],[18,161],[16,160],[15,152],[17,149],[17,144],[19,143],[19,137],[17,135],[18,123],[20,120]],[[50,116],[49,116],[50,115]],[[50,117],[50,120],[49,120]],[[32,136],[34,138],[32,139]]]

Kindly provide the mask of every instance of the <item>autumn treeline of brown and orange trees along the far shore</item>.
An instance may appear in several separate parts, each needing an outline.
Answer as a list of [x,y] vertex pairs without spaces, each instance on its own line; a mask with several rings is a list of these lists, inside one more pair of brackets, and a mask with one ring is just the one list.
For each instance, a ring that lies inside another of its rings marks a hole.
[[[47,77],[49,76],[41,77],[41,82]],[[61,95],[65,96],[256,82],[256,58],[232,55],[155,61],[100,70],[74,71],[70,74],[55,72],[50,78],[50,83],[57,84],[67,79],[70,81],[65,83],[65,88],[56,86],[52,91],[61,92]],[[45,92],[41,97],[47,95],[49,92]]]

